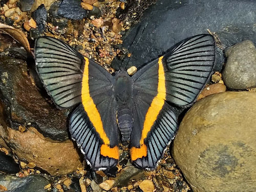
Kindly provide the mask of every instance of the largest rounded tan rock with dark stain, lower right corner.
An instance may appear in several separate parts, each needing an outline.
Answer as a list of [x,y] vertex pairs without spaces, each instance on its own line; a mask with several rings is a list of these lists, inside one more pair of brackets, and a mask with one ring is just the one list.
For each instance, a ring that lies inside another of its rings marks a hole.
[[255,92],[223,92],[185,114],[173,157],[195,192],[255,191]]

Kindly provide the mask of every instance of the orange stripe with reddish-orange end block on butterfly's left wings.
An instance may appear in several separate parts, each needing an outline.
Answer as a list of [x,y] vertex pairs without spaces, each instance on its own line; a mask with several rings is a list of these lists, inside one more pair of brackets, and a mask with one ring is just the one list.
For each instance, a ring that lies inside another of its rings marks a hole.
[[82,98],[82,105],[84,110],[87,112],[87,115],[92,122],[95,130],[99,134],[100,138],[103,140],[103,145],[100,148],[100,154],[103,156],[112,157],[115,159],[118,159],[118,147],[115,146],[114,148],[110,148],[110,140],[108,136],[106,136],[106,133],[103,129],[103,124],[101,121],[101,117],[99,114],[98,109],[96,108],[96,105],[91,98],[90,90],[89,90],[89,59],[84,57],[86,60],[86,63],[84,65],[83,70],[83,78],[82,78],[82,92],[81,92],[81,98]]

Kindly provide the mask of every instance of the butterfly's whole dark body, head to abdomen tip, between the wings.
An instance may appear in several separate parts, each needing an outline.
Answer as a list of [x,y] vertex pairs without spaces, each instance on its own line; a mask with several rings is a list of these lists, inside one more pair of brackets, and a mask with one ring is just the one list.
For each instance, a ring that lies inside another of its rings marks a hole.
[[117,101],[117,124],[122,141],[128,141],[133,129],[132,79],[126,71],[118,71],[115,76],[115,99]]

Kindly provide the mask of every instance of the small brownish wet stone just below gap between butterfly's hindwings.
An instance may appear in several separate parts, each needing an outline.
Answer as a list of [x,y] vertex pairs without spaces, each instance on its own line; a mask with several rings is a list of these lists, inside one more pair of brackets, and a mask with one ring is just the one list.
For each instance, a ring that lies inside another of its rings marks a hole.
[[115,186],[126,186],[134,177],[140,178],[143,170],[137,169],[135,166],[126,166],[116,176]]

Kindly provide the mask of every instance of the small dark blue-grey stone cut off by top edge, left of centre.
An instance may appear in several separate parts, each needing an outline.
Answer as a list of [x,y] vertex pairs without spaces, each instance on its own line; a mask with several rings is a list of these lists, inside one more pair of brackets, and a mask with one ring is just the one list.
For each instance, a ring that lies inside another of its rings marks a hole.
[[59,6],[58,15],[73,20],[83,19],[88,12],[80,4],[80,0],[63,0]]

